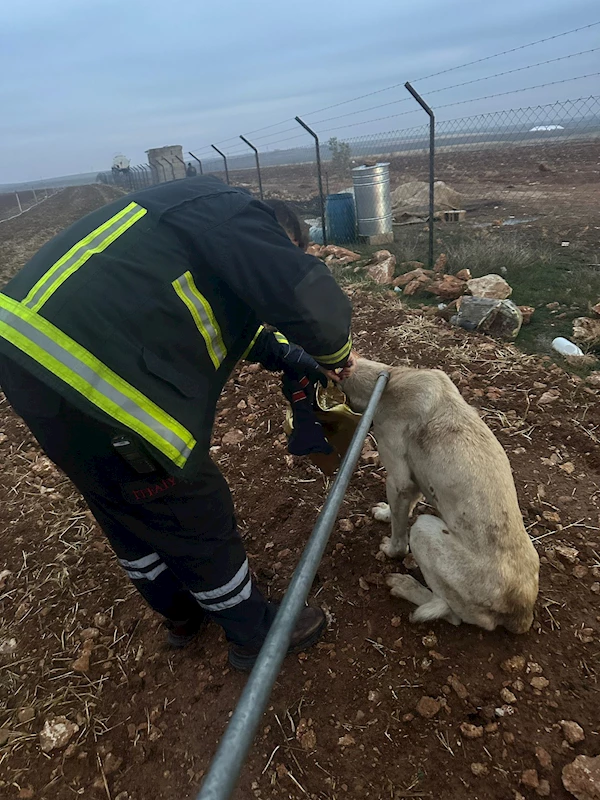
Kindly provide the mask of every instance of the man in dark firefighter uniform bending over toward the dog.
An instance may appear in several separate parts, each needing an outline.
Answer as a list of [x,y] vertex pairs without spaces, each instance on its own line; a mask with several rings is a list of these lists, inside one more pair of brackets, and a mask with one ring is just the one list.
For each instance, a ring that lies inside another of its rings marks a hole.
[[[197,177],[89,214],[0,293],[9,402],[77,486],[171,643],[210,617],[238,669],[254,664],[276,607],[252,581],[210,437],[240,359],[313,382],[316,362],[348,361],[350,304],[304,244],[289,209]],[[261,323],[283,334],[279,354]],[[307,606],[290,651],[324,626]]]

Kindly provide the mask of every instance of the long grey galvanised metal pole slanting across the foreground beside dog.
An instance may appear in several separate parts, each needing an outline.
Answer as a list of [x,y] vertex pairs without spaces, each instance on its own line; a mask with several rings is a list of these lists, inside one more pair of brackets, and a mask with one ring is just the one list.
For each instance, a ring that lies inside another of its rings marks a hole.
[[244,759],[269,701],[273,684],[286,656],[296,620],[319,568],[331,529],[389,377],[389,372],[379,373],[371,399],[354,432],[331,492],[325,500],[275,621],[256,659],[254,669],[223,734],[196,800],[227,800],[235,789]]

